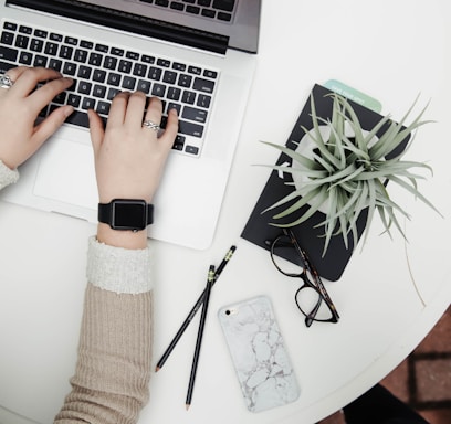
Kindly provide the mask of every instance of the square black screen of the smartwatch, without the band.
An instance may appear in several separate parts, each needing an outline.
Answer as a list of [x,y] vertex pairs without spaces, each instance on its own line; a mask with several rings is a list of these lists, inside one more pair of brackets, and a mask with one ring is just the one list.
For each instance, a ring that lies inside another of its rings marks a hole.
[[139,200],[115,200],[113,202],[112,227],[115,230],[144,230],[147,226],[146,202]]

